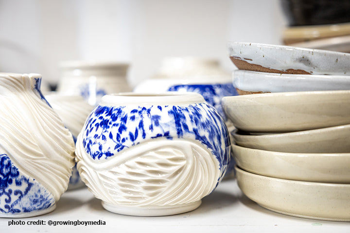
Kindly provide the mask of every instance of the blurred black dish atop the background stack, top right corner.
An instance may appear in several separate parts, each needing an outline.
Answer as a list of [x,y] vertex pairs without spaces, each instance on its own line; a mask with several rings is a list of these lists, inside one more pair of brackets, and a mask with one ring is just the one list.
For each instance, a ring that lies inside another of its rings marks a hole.
[[350,22],[350,0],[281,0],[289,26]]

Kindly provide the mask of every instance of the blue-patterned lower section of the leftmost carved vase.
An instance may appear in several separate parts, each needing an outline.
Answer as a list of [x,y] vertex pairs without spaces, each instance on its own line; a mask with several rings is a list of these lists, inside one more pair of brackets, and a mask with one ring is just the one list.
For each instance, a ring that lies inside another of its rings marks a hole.
[[21,174],[6,154],[0,154],[0,213],[20,214],[53,206],[53,195]]

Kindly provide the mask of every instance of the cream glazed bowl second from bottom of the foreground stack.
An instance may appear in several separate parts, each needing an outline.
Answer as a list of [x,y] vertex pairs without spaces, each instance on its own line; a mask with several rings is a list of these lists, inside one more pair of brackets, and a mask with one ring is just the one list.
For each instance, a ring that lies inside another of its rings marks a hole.
[[285,153],[232,144],[236,164],[268,177],[325,183],[350,183],[350,153]]

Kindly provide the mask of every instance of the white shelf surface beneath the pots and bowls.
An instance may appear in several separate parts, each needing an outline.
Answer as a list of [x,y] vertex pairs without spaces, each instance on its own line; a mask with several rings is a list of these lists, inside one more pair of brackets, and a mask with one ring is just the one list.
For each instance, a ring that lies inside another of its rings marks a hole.
[[[350,210],[349,210],[350,211]],[[0,219],[0,233],[31,232],[114,232],[114,233],[185,233],[185,232],[336,232],[350,233],[349,222],[320,221],[285,216],[266,210],[249,200],[240,191],[236,180],[225,180],[202,204],[191,212],[160,217],[123,216],[106,211],[101,201],[94,198],[87,188],[73,190],[62,195],[57,208],[46,215],[30,218],[14,218],[18,221],[46,221],[46,225],[8,226],[12,218]],[[105,225],[49,226],[52,221],[105,221]],[[6,231],[5,231],[6,230]]]

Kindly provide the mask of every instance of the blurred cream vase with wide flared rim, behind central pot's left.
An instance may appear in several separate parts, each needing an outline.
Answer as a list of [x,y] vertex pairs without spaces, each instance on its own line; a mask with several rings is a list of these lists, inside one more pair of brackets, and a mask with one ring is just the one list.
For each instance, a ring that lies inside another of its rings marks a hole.
[[110,93],[126,92],[131,88],[126,80],[127,64],[114,62],[72,61],[61,64],[59,93],[81,95],[95,106]]

